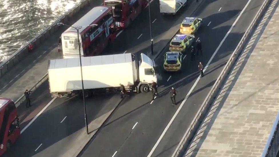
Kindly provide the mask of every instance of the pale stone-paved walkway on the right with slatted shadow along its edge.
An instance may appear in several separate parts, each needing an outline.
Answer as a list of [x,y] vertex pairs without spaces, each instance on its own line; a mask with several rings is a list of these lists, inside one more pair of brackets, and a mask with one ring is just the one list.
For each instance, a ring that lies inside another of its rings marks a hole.
[[185,156],[261,156],[279,110],[279,8],[272,1]]

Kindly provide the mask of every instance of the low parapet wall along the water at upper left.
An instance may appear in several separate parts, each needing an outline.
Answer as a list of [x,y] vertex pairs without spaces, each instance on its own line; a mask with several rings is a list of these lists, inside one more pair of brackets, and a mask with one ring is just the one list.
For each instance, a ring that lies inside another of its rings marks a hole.
[[[23,47],[18,49],[11,57],[5,60],[0,64],[0,77],[2,77],[5,73],[7,73],[12,67],[14,67],[19,61],[21,61],[24,57],[28,55],[28,45],[33,44],[34,49],[42,44],[48,37],[59,29],[59,26],[56,25],[57,22],[68,23],[69,19],[77,14],[81,9],[89,5],[89,1],[92,0],[83,0],[76,7],[73,7],[69,11],[67,11],[64,15],[62,15],[59,19],[54,21],[50,26],[41,31],[38,35],[36,35],[33,39],[28,41]],[[58,41],[57,41],[58,43]]]

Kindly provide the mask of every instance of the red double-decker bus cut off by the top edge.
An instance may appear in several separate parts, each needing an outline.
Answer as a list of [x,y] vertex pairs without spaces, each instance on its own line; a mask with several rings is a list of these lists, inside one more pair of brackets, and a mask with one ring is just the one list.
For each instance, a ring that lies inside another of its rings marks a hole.
[[111,6],[117,28],[127,28],[142,12],[147,0],[105,0],[104,5]]

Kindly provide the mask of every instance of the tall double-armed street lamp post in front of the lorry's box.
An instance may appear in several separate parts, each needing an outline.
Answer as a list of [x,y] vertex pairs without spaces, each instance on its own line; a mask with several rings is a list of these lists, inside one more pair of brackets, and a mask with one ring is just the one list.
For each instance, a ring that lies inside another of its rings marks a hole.
[[[66,24],[59,22],[59,23],[56,23],[56,25],[66,25]],[[70,26],[70,25],[66,25],[66,26]],[[89,25],[89,26],[97,26],[97,24],[93,24],[93,25]],[[88,132],[88,122],[87,122],[86,107],[85,107],[85,99],[84,99],[84,86],[83,86],[81,52],[80,52],[80,42],[79,42],[79,29],[81,29],[82,27],[73,27],[73,26],[70,26],[70,27],[72,27],[75,30],[77,30],[77,42],[78,42],[78,48],[79,48],[79,63],[80,63],[80,72],[81,72],[81,85],[82,85],[82,97],[83,97],[83,107],[84,107],[84,119],[85,119],[86,132],[87,132],[87,134],[89,134],[89,132]],[[84,27],[87,27],[87,26],[84,26]]]

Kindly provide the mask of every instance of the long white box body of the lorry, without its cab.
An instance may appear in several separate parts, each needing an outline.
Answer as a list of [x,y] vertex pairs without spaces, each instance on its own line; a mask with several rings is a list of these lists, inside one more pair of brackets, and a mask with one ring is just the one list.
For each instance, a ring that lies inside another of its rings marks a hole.
[[[131,54],[81,57],[84,89],[131,86],[137,80]],[[49,61],[50,92],[81,90],[79,57]]]

